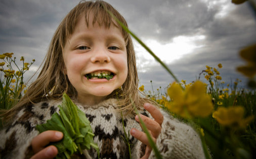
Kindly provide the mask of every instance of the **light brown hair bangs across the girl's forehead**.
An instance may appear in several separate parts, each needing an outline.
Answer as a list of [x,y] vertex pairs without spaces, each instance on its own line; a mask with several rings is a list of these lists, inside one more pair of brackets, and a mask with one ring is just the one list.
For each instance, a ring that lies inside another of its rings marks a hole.
[[[62,35],[63,42],[65,44],[66,40],[72,35],[73,30],[76,26],[76,23],[80,19],[81,16],[85,16],[86,25],[99,25],[100,27],[110,28],[111,25],[120,28],[122,30],[122,35],[125,43],[127,43],[129,33],[127,33],[122,27],[114,20],[114,18],[107,12],[112,13],[124,26],[127,26],[125,19],[115,10],[111,5],[104,1],[96,1],[96,2],[87,2],[81,1],[75,8],[73,8],[67,17],[64,19],[64,27]],[[89,18],[92,16],[93,24],[89,23]]]

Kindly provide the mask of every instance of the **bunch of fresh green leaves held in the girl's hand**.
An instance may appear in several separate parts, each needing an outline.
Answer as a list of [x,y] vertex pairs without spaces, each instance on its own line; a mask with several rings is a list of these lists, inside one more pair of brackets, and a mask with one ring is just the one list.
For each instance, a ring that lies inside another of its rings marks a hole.
[[52,142],[58,148],[56,158],[70,158],[73,153],[82,153],[82,149],[90,149],[91,146],[97,150],[99,157],[99,147],[93,141],[93,129],[86,115],[71,101],[64,93],[59,114],[52,115],[47,123],[37,125],[36,129],[41,133],[47,130],[61,131],[63,139]]

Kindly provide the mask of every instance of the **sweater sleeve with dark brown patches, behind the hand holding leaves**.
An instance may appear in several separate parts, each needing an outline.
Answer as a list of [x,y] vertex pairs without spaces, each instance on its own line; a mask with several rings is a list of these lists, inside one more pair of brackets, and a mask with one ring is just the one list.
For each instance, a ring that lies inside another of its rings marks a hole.
[[55,107],[48,108],[48,103],[29,105],[19,111],[12,124],[0,131],[0,158],[30,158],[31,141],[39,133],[35,126],[46,122],[55,111]]

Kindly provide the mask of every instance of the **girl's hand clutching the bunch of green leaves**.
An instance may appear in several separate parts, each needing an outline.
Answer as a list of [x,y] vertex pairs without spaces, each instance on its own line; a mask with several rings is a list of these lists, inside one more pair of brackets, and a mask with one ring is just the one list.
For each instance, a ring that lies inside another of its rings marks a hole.
[[63,138],[63,133],[60,131],[48,130],[44,131],[32,139],[32,149],[34,151],[34,155],[31,159],[34,158],[54,158],[58,154],[58,149],[51,145],[45,147],[50,142],[59,141]]

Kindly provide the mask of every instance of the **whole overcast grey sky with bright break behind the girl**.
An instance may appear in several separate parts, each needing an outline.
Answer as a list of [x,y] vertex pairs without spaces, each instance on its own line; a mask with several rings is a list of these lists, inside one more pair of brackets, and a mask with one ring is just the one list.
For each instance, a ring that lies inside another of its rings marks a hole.
[[[0,54],[14,52],[32,61],[31,76],[44,59],[51,38],[65,15],[79,1],[1,0]],[[256,41],[256,17],[248,3],[231,0],[109,0],[130,30],[162,59],[178,79],[195,81],[205,65],[220,69],[226,84],[246,78],[236,72],[245,62],[238,51]],[[140,86],[166,87],[174,79],[134,41]],[[3,74],[2,78],[3,78]],[[201,79],[204,78],[201,76]]]

